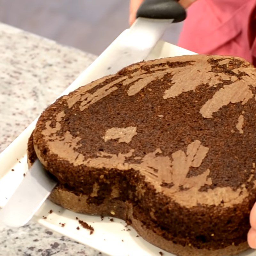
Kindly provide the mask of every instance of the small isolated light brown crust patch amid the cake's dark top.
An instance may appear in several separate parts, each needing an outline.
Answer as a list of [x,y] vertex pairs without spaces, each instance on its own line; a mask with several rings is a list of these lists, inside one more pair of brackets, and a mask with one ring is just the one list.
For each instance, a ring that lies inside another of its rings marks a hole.
[[106,142],[108,140],[119,139],[118,143],[125,142],[128,144],[129,142],[131,142],[132,138],[137,134],[136,130],[137,127],[134,126],[128,126],[125,128],[113,127],[105,132],[103,140],[105,140]]

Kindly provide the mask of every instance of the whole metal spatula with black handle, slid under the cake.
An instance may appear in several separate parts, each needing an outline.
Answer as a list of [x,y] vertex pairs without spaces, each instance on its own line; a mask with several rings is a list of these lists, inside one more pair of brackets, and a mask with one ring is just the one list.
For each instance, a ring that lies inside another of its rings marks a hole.
[[[121,68],[144,60],[172,22],[186,18],[186,12],[174,0],[145,0],[128,33],[115,41],[116,52],[97,70],[96,78],[114,74]],[[107,51],[107,50],[106,50]],[[0,221],[11,227],[25,225],[56,186],[49,172],[36,160],[7,204],[0,210]]]

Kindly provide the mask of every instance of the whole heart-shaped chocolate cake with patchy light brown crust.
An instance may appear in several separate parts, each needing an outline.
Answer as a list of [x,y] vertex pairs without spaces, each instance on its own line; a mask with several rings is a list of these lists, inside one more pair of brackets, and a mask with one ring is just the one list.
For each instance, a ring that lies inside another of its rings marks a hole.
[[256,196],[256,70],[240,58],[133,64],[56,100],[28,143],[50,199],[128,221],[181,256],[248,248]]

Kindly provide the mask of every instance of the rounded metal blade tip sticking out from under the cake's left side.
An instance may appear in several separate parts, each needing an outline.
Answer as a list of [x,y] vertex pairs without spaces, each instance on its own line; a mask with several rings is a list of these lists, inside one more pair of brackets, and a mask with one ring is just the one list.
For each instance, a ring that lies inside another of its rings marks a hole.
[[0,210],[0,222],[10,227],[25,225],[56,184],[57,182],[37,159],[7,204]]

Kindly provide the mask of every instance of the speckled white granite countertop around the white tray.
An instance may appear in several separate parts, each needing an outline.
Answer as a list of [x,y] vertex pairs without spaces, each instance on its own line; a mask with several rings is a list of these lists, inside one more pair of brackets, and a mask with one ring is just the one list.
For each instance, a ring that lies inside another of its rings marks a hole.
[[[0,38],[1,153],[96,56],[3,23]],[[33,221],[21,228],[0,224],[0,248],[0,256],[101,254]]]

